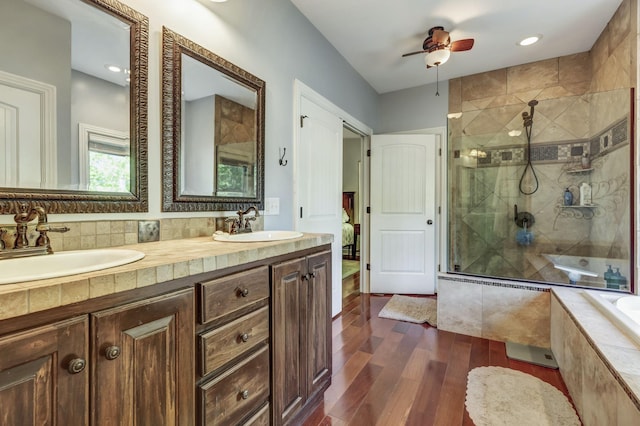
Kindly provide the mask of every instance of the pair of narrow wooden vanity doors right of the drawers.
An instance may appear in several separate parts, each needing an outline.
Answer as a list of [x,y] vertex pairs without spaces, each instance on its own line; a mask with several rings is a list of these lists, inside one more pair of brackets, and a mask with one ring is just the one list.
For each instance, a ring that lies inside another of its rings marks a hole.
[[331,252],[272,268],[273,424],[300,421],[331,383]]

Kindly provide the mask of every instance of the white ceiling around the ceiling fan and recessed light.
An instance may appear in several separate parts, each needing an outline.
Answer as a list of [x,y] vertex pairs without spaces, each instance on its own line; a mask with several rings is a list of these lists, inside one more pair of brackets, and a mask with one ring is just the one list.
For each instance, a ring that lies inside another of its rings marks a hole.
[[[451,40],[475,39],[454,52],[440,81],[591,49],[621,0],[291,0],[378,92],[435,83],[422,49],[429,28]],[[529,35],[542,39],[516,45]]]

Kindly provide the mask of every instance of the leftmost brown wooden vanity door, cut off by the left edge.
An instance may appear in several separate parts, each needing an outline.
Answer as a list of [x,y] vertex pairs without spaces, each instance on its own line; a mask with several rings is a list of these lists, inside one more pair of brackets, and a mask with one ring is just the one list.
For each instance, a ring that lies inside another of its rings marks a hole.
[[0,425],[86,425],[87,317],[0,338]]

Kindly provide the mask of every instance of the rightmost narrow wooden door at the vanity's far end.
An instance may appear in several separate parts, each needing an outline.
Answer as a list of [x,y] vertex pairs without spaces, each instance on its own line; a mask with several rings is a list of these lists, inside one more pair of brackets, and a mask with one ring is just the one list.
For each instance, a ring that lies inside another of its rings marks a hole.
[[331,252],[307,258],[307,397],[331,380]]

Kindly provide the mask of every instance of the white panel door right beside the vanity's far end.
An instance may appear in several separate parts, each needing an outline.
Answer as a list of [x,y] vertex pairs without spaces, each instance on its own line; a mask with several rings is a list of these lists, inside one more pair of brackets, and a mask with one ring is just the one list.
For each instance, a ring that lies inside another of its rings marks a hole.
[[342,120],[301,97],[305,117],[296,151],[297,226],[333,234],[332,315],[342,310]]

